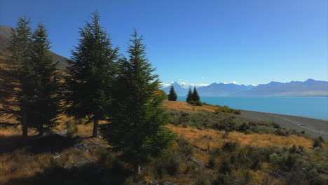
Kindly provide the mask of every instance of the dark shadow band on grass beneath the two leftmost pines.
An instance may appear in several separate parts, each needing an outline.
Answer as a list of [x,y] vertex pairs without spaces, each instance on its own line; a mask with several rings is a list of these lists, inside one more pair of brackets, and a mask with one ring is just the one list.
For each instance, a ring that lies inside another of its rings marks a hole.
[[[43,152],[61,152],[78,142],[78,138],[69,138],[61,135],[44,135],[44,136],[30,136],[28,151],[31,153]],[[11,153],[15,150],[23,149],[22,136],[0,135],[0,154]]]

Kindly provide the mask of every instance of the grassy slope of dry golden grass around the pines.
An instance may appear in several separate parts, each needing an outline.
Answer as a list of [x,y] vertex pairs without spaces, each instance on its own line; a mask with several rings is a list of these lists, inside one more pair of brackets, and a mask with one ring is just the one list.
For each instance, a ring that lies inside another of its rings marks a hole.
[[[183,111],[189,114],[212,114],[217,107],[206,105],[203,107],[194,107],[186,102],[169,102],[164,101],[163,107],[169,112]],[[227,114],[222,114],[226,116]],[[233,116],[229,115],[228,116]],[[1,118],[0,118],[1,120]],[[2,121],[6,118],[2,118]],[[74,123],[69,118],[62,117],[62,123],[59,129],[67,128],[64,123]],[[78,128],[77,135],[81,137],[88,137],[92,132],[92,125],[76,125]],[[173,181],[181,184],[194,184],[195,181],[203,181],[209,183],[209,179],[219,179],[221,182],[234,179],[233,181],[245,182],[252,184],[264,184],[268,181],[269,184],[287,184],[286,177],[275,177],[268,172],[270,170],[279,169],[275,163],[269,163],[264,160],[260,163],[260,169],[250,169],[247,163],[240,162],[240,167],[235,167],[235,164],[230,164],[232,172],[223,174],[220,172],[222,163],[224,161],[231,161],[231,156],[237,156],[242,153],[247,160],[253,163],[255,160],[253,155],[262,155],[261,153],[270,147],[279,146],[281,155],[287,155],[291,146],[303,146],[307,151],[306,156],[311,158],[311,163],[320,164],[327,167],[327,156],[322,154],[321,150],[328,148],[328,143],[323,143],[323,149],[313,150],[313,141],[305,137],[296,135],[279,136],[266,133],[247,133],[242,132],[226,132],[224,130],[213,130],[210,128],[198,128],[194,125],[179,124],[168,125],[168,127],[177,134],[177,142],[175,146],[168,151],[168,156],[156,159],[153,163],[143,167],[144,172],[139,177],[149,181],[149,179],[157,179],[160,181]],[[90,184],[95,181],[96,184],[101,184],[103,177],[108,177],[107,181],[117,180],[117,184],[132,184],[128,165],[120,165],[115,167],[114,154],[104,151],[107,145],[102,139],[79,139],[78,142],[82,144],[91,144],[93,149],[75,149],[76,140],[67,139],[66,137],[51,137],[46,135],[44,137],[35,137],[33,130],[31,132],[32,152],[22,151],[20,128],[2,128],[0,129],[0,184],[47,184],[53,181],[54,184],[69,184],[82,183]],[[183,141],[186,142],[183,142]],[[50,145],[48,143],[51,143]],[[94,143],[97,146],[94,146]],[[226,143],[236,143],[236,149],[229,151],[225,149]],[[48,144],[48,145],[47,145]],[[56,144],[58,146],[56,146]],[[217,151],[220,149],[220,154],[210,154],[205,151],[200,151],[193,147],[193,145],[200,146],[203,149],[210,149],[210,151]],[[285,149],[282,149],[285,147]],[[259,151],[257,151],[259,150]],[[255,152],[255,154],[254,154]],[[104,155],[104,153],[106,155]],[[239,153],[239,154],[238,154]],[[287,154],[286,154],[287,153]],[[269,153],[270,154],[270,153]],[[303,154],[290,154],[303,155]],[[56,157],[59,156],[59,157]],[[105,156],[105,157],[104,157]],[[188,160],[186,156],[192,156],[200,160],[204,167],[195,165],[195,163]],[[88,158],[87,165],[76,166],[83,158]],[[239,160],[239,158],[238,158]],[[173,165],[172,165],[173,164]],[[177,165],[177,170],[172,171]],[[108,167],[110,166],[110,167]],[[211,166],[211,167],[209,167]],[[122,170],[123,168],[123,170]],[[102,169],[102,170],[100,170]],[[163,170],[164,169],[164,170]],[[159,171],[165,172],[159,172]],[[97,171],[97,172],[95,172]],[[45,173],[46,172],[46,173]],[[114,179],[110,179],[111,175]],[[171,173],[170,173],[171,172]],[[68,175],[71,174],[71,175]],[[122,176],[122,174],[125,174]],[[289,174],[288,174],[289,175]],[[109,177],[110,176],[110,177]],[[122,176],[122,177],[121,177]],[[121,179],[120,179],[121,178]],[[288,176],[289,178],[289,176]],[[211,180],[212,181],[212,180]],[[213,181],[212,181],[213,182]],[[308,184],[307,181],[301,181],[303,184]]]

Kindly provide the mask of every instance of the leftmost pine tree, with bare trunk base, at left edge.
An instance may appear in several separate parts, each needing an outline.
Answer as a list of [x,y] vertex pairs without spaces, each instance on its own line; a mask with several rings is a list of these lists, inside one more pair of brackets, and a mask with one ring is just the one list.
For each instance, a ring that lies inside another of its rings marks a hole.
[[22,123],[23,144],[27,144],[27,127],[30,104],[33,97],[32,70],[29,65],[32,32],[29,18],[19,18],[16,29],[12,29],[12,38],[7,55],[1,60],[0,113],[15,118]]

